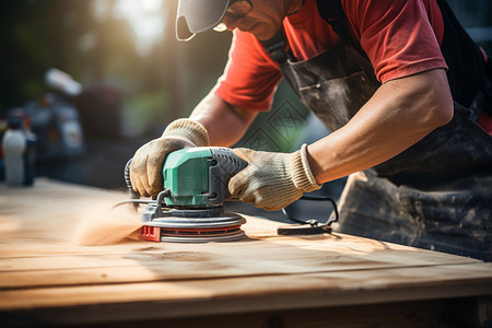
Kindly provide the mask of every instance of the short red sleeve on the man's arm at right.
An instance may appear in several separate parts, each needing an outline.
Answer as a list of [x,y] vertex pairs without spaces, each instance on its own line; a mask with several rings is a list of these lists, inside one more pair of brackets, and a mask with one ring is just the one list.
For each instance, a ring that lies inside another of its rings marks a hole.
[[343,7],[382,83],[447,69],[440,49],[444,26],[435,1],[345,0]]

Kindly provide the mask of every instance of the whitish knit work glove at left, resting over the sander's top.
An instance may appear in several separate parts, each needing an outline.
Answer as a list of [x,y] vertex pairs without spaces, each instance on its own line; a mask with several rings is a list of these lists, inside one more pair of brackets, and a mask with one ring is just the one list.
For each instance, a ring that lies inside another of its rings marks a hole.
[[209,145],[209,134],[199,122],[187,118],[173,121],[162,133],[140,149],[130,164],[131,186],[140,196],[156,196],[163,190],[162,165],[171,152]]

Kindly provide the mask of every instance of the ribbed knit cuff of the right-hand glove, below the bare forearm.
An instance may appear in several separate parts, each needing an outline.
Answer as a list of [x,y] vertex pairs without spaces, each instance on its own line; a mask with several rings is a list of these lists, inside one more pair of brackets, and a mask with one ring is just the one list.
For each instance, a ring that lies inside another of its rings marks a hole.
[[316,183],[313,172],[311,172],[306,143],[298,151],[291,154],[288,165],[292,181],[297,190],[311,192],[321,188],[321,185]]

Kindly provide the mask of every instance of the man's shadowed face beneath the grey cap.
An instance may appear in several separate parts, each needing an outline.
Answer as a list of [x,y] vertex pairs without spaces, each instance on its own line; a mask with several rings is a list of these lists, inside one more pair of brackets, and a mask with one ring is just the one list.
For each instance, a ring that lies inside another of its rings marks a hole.
[[226,15],[223,23],[230,31],[238,28],[266,40],[279,31],[292,2],[295,0],[251,0],[253,10],[248,14],[238,20]]

